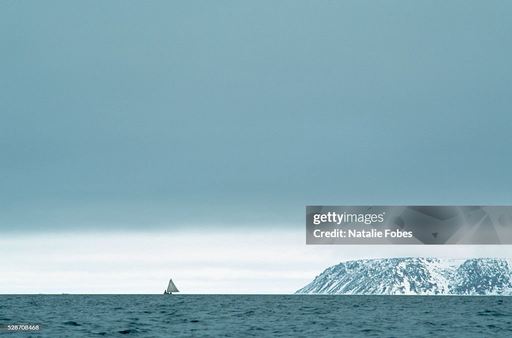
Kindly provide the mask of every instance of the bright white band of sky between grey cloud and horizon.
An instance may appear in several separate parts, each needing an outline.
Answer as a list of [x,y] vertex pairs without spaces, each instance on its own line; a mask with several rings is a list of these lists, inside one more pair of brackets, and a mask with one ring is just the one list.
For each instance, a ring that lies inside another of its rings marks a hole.
[[[288,294],[341,261],[512,257],[511,245],[306,245],[305,229],[9,235],[4,293]],[[163,291],[162,291],[163,292]]]

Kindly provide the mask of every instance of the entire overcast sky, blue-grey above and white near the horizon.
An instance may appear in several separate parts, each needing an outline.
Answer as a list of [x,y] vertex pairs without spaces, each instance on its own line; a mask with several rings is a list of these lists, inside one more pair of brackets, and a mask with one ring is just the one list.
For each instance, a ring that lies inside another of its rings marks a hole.
[[0,293],[153,293],[169,277],[189,293],[287,293],[348,259],[512,257],[311,246],[304,217],[509,205],[511,14],[476,1],[2,2]]

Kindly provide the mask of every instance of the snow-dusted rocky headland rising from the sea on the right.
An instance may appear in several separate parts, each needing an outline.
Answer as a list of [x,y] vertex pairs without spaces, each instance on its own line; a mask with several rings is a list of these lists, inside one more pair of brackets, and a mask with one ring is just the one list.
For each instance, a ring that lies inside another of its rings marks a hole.
[[295,294],[512,296],[512,259],[348,261],[327,268]]

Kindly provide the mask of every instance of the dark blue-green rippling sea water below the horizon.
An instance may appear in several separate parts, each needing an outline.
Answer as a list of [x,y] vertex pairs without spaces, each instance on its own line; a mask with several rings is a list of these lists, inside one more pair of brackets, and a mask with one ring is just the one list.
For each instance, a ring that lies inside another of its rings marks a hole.
[[511,337],[512,297],[0,295],[13,337]]

